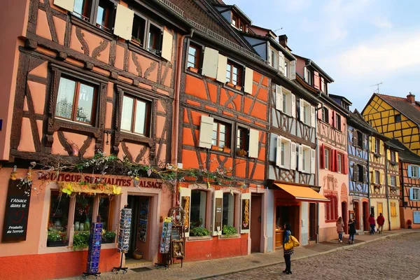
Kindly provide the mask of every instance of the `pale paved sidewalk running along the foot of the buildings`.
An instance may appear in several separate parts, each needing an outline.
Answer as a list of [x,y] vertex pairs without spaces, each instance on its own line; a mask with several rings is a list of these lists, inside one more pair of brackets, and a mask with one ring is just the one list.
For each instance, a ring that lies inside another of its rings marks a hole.
[[[363,244],[370,243],[389,237],[398,235],[407,235],[412,232],[419,232],[418,230],[392,230],[391,232],[384,232],[383,234],[375,235],[356,235],[354,237],[355,244],[347,244],[348,239],[344,238],[342,243],[337,240],[322,242],[313,246],[304,246],[295,248],[295,253],[292,255],[292,260],[300,260],[302,258],[310,258],[315,255],[331,253],[333,251],[345,250],[346,248],[354,248]],[[348,235],[346,235],[348,237]],[[212,276],[220,276],[225,274],[232,274],[248,269],[266,267],[283,262],[283,251],[275,251],[272,253],[252,253],[234,258],[223,258],[214,260],[204,260],[198,262],[184,262],[183,268],[180,264],[172,265],[169,269],[165,268],[143,268],[141,272],[129,270],[126,274],[115,274],[106,272],[101,274],[100,279],[167,279],[167,280],[186,280],[186,279],[204,279]],[[67,278],[67,280],[83,279],[81,276]]]

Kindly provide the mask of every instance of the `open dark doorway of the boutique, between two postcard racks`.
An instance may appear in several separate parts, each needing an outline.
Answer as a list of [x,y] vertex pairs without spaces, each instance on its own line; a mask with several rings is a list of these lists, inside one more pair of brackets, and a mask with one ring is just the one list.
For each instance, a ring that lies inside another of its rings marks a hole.
[[128,207],[132,209],[132,226],[130,230],[130,246],[125,259],[133,258],[134,251],[138,250],[142,253],[142,260],[152,260],[150,253],[150,209],[151,197],[141,195],[128,195]]

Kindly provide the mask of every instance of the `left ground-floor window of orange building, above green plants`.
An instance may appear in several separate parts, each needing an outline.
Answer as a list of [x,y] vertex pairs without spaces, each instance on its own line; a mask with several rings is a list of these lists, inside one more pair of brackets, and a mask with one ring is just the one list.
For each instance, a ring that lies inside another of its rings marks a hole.
[[191,190],[190,226],[191,228],[205,228],[207,209],[207,192]]

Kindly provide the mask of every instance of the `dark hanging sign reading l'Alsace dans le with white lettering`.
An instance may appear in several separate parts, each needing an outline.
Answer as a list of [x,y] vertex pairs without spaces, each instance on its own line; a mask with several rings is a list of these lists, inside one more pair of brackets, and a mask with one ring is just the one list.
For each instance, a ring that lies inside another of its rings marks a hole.
[[25,241],[31,188],[20,180],[9,180],[4,211],[2,242]]

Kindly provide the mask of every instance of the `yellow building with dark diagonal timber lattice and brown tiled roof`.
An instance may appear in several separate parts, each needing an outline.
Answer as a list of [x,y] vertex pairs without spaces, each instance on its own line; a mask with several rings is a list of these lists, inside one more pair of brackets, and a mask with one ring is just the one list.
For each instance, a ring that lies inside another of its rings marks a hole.
[[362,115],[378,132],[398,139],[411,151],[420,155],[420,102],[414,94],[407,98],[374,93]]

